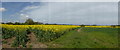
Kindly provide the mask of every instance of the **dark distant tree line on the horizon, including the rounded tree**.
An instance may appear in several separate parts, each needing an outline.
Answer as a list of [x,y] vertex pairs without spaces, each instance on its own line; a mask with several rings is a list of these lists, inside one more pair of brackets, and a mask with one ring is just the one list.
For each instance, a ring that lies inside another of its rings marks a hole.
[[[4,23],[2,22],[2,24],[12,24],[12,25],[41,25],[41,24],[44,24],[42,22],[34,22],[31,18],[27,19],[24,23],[20,23],[20,22],[15,22],[15,23],[12,23],[12,22],[7,22],[7,23]],[[70,24],[49,24],[49,23],[45,23],[44,25],[70,25]],[[93,24],[93,25],[85,25],[85,24],[81,24],[79,25],[81,27],[85,27],[85,26],[98,26],[96,24]],[[111,27],[116,27],[116,26],[120,26],[120,25],[111,25]]]

